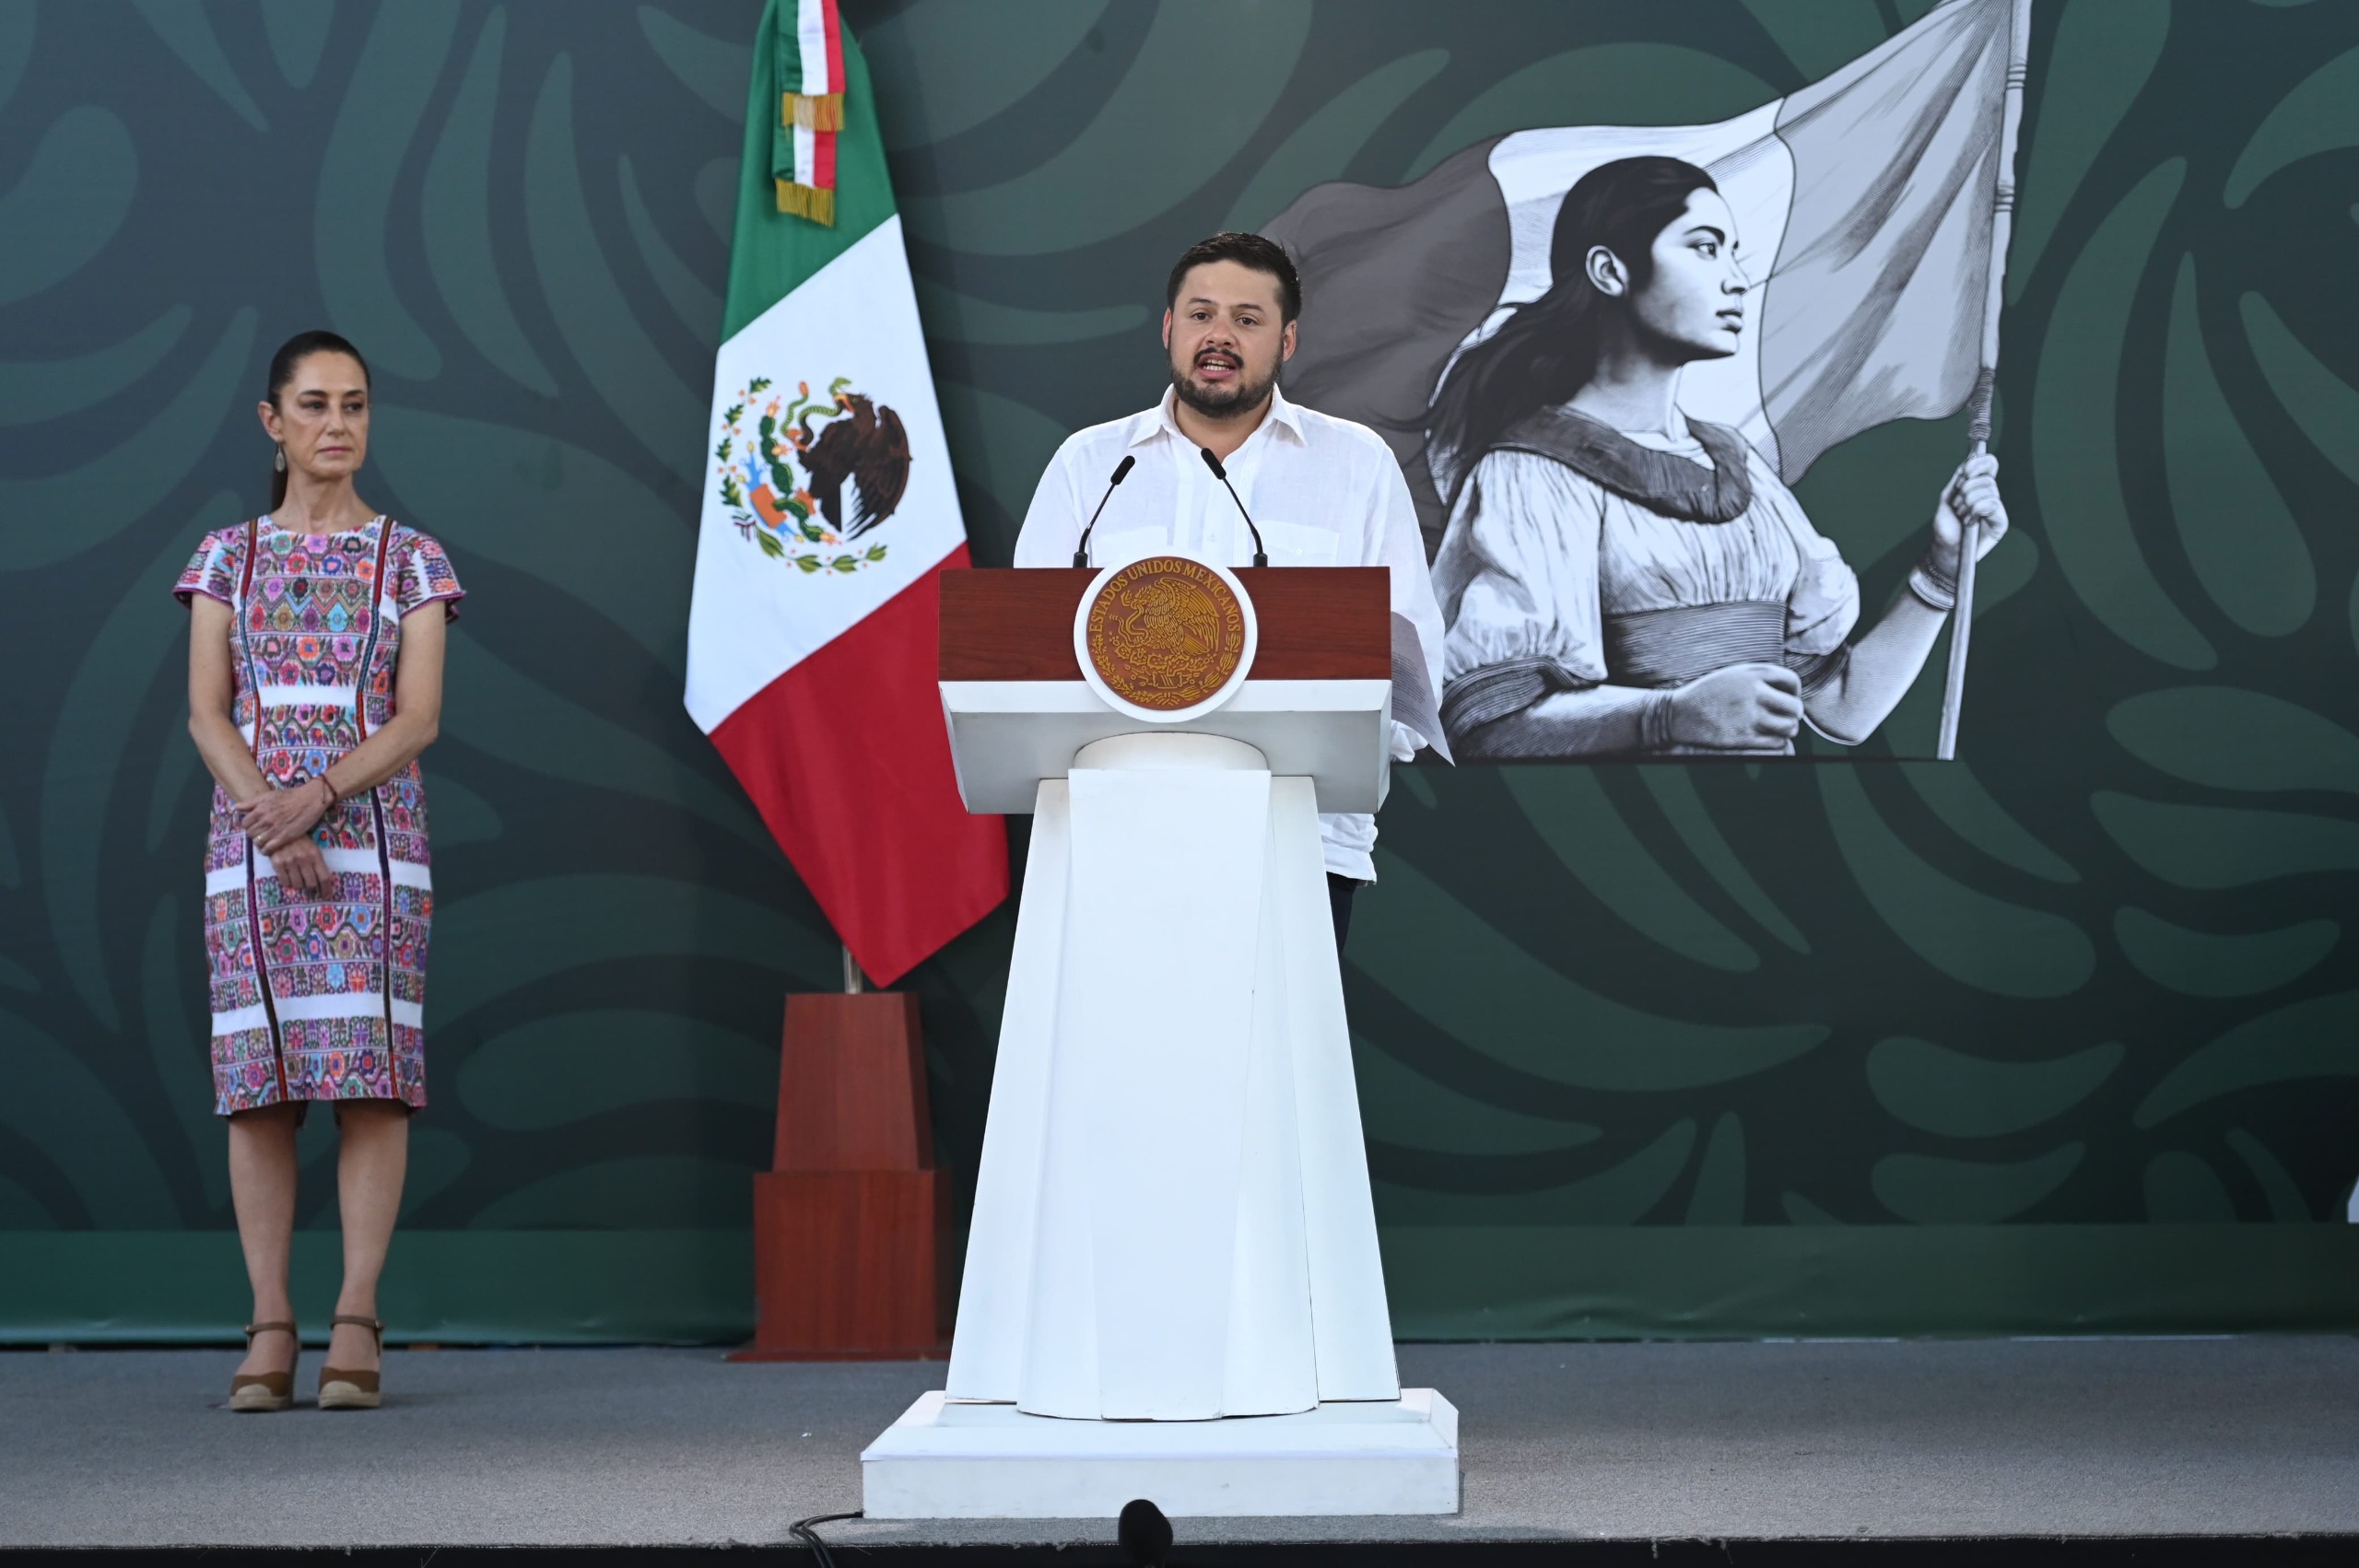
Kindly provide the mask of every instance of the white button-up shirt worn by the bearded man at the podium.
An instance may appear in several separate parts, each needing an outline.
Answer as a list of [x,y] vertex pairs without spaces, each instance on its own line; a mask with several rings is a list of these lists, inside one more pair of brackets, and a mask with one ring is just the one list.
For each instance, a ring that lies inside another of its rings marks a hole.
[[[1066,436],[1024,514],[1017,566],[1073,564],[1080,528],[1123,457],[1137,457],[1139,465],[1097,519],[1097,533],[1090,535],[1092,566],[1121,566],[1158,549],[1182,549],[1222,566],[1253,566],[1253,535],[1229,490],[1196,455],[1196,443],[1180,434],[1172,420],[1175,396],[1165,391],[1144,413]],[[1418,535],[1408,481],[1382,436],[1272,391],[1269,417],[1224,467],[1238,500],[1262,528],[1272,566],[1392,568],[1392,608],[1418,627],[1425,674],[1439,693],[1441,606],[1434,604],[1434,585],[1425,571],[1425,540]],[[1392,726],[1397,759],[1408,762],[1425,743],[1408,726]],[[1323,813],[1319,839],[1330,872],[1375,879],[1375,863],[1368,858],[1375,849],[1373,816]]]

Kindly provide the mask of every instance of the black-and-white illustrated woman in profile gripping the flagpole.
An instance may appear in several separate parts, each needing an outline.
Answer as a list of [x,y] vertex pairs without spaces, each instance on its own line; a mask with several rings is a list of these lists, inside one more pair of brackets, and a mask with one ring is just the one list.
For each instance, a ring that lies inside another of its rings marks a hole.
[[1736,354],[1750,278],[1713,177],[1623,158],[1564,198],[1550,290],[1465,349],[1434,403],[1441,722],[1489,757],[1788,755],[1857,745],[1956,604],[1960,519],[2008,531],[1998,460],[1934,505],[1908,592],[1857,641],[1859,580],[1680,370]]

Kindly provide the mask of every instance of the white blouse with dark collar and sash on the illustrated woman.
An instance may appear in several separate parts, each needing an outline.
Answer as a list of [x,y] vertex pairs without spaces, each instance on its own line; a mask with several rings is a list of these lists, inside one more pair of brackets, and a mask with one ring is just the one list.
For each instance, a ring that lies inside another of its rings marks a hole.
[[[1859,580],[1736,431],[1614,431],[1543,410],[1484,453],[1434,556],[1451,745],[1507,757],[1486,726],[1557,691],[1663,693],[1734,663],[1783,663],[1816,696],[1842,674]],[[1698,755],[1661,705],[1592,703],[1552,755]],[[1793,743],[1741,747],[1790,755]]]

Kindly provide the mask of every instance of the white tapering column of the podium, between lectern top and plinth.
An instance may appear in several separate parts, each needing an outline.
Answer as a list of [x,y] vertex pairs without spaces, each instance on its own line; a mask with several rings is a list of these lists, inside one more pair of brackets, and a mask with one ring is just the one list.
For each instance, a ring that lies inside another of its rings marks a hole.
[[1116,1422],[1397,1401],[1312,780],[1135,733],[1036,804],[948,1396]]

